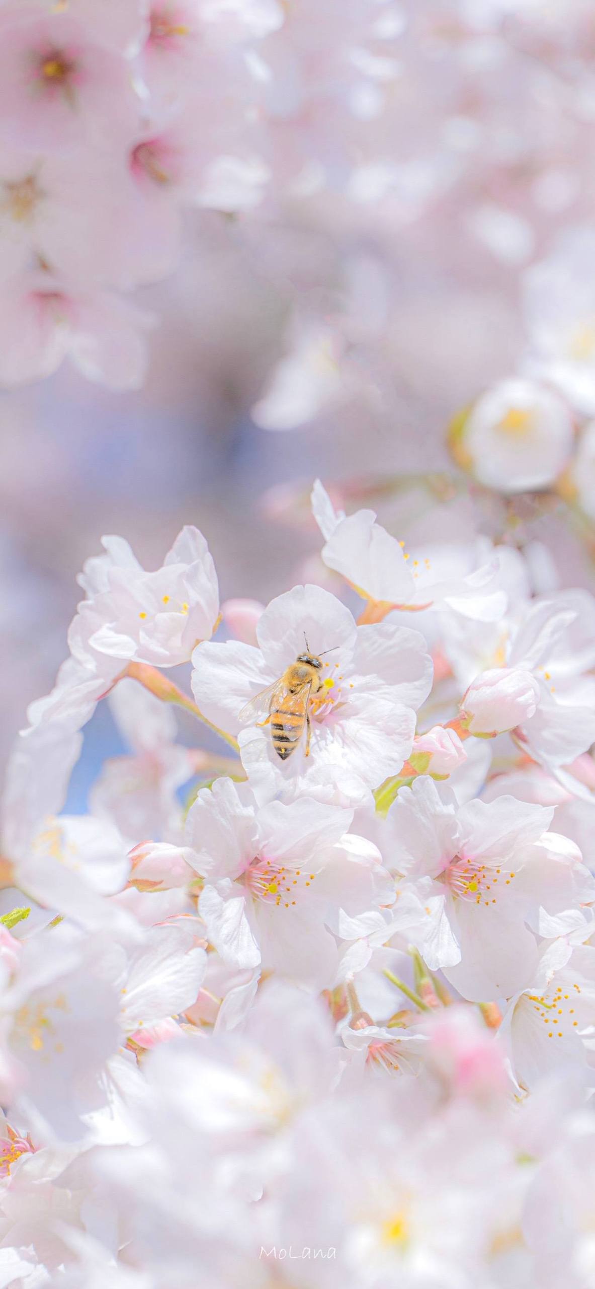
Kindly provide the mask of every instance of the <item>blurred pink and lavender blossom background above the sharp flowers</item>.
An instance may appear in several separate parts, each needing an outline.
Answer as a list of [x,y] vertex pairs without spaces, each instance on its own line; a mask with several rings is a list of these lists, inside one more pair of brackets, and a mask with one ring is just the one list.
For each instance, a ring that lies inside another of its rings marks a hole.
[[222,598],[267,601],[328,576],[319,474],[590,583],[589,0],[5,0],[0,31],[3,758],[106,532],[151,567],[196,523]]

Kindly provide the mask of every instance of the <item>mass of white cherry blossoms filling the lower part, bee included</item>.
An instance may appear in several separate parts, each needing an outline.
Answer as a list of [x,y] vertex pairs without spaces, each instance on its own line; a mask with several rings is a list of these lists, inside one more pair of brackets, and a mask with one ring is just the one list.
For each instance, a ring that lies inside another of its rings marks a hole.
[[595,599],[312,509],[268,606],[194,527],[80,575],[3,802],[6,1286],[595,1285]]

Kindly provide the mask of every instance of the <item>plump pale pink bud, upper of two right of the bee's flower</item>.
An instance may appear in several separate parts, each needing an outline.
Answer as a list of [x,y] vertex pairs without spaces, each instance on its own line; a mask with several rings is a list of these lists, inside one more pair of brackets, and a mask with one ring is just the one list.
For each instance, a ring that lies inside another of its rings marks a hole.
[[505,666],[482,672],[461,703],[469,732],[489,739],[514,730],[533,715],[540,687],[531,672]]

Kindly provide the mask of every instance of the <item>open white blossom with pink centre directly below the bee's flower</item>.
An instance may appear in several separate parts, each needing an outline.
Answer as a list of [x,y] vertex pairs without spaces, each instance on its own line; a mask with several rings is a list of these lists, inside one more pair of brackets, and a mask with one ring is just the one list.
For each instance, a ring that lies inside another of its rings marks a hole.
[[184,858],[205,879],[198,911],[224,962],[332,984],[337,941],[382,926],[394,887],[352,811],[301,797],[256,807],[222,779],[191,807]]

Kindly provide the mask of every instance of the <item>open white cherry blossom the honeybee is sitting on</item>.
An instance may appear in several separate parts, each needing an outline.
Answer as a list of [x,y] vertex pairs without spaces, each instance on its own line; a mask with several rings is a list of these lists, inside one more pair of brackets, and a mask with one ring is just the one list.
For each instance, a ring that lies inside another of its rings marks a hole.
[[[431,683],[417,632],[388,623],[355,626],[348,608],[310,585],[273,599],[256,637],[258,648],[240,641],[200,644],[192,655],[192,688],[210,721],[240,731],[242,762],[260,798],[309,791],[350,803],[401,770],[412,748],[413,710]],[[282,762],[268,726],[241,730],[241,712],[304,648],[321,655],[322,664],[319,697],[309,703],[310,750],[307,757],[304,739]]]

